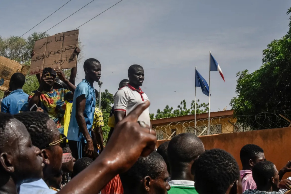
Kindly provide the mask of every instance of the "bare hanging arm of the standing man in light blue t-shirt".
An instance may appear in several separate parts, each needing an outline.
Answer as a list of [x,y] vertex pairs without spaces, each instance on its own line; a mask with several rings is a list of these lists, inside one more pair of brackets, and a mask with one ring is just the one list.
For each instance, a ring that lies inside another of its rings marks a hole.
[[85,111],[85,105],[86,105],[86,97],[85,95],[78,96],[76,98],[76,119],[77,123],[79,125],[79,130],[81,133],[84,135],[84,138],[87,141],[86,147],[85,147],[85,152],[86,155],[89,157],[92,156],[93,151],[94,151],[94,146],[93,146],[93,141],[92,138],[89,134],[89,131],[87,129],[86,121],[84,118],[84,111]]

